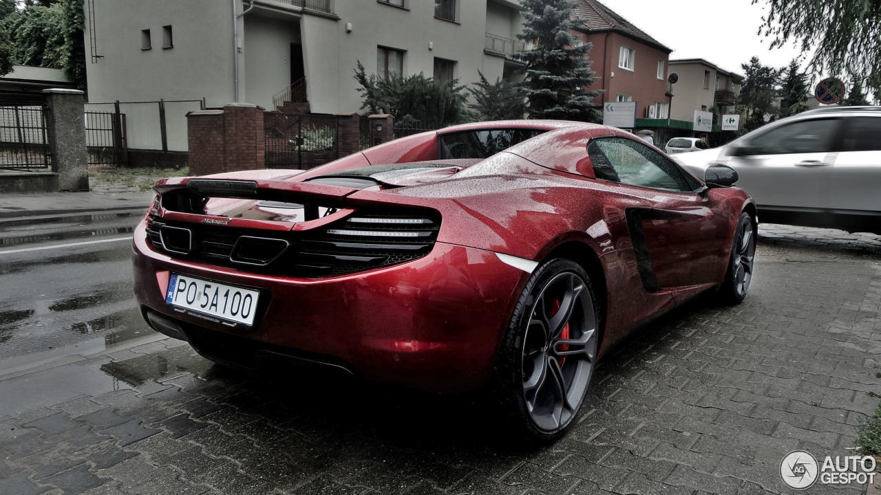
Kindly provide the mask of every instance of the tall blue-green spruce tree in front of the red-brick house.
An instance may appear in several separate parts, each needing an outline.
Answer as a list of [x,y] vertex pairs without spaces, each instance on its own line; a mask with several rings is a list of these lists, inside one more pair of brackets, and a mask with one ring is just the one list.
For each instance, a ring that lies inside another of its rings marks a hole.
[[590,70],[591,43],[581,44],[570,32],[581,21],[574,18],[569,0],[523,0],[526,19],[517,38],[532,45],[515,58],[526,63],[523,83],[529,117],[599,122],[594,102],[600,92],[588,88],[597,78]]

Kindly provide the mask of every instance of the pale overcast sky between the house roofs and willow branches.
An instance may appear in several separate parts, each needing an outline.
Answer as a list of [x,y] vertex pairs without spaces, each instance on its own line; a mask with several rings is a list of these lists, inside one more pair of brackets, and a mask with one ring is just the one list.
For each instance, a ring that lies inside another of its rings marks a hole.
[[769,51],[772,40],[757,34],[767,10],[764,1],[755,5],[751,0],[600,2],[672,49],[671,59],[703,58],[721,69],[743,74],[740,64],[752,56],[765,65],[783,67],[801,55],[791,42]]

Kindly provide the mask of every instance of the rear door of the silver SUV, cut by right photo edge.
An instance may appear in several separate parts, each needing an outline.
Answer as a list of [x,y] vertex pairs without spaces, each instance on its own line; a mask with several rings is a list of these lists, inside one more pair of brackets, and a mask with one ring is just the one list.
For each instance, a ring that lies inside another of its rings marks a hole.
[[843,119],[829,208],[881,212],[881,115]]

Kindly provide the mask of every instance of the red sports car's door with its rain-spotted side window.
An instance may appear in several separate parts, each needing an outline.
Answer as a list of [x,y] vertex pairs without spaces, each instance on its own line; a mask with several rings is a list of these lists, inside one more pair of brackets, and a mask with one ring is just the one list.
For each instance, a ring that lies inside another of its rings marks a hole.
[[626,212],[648,292],[721,281],[730,222],[715,216],[712,201],[695,192],[700,182],[626,137],[593,139],[588,151],[598,179],[632,186],[650,205]]

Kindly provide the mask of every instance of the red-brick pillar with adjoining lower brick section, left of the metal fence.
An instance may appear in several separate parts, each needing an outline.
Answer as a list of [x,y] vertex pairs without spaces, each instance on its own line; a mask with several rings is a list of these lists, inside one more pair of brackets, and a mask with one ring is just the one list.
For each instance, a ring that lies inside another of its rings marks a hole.
[[230,103],[187,114],[189,173],[220,174],[265,168],[263,108]]

